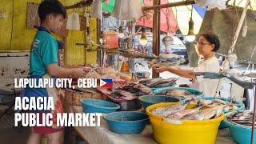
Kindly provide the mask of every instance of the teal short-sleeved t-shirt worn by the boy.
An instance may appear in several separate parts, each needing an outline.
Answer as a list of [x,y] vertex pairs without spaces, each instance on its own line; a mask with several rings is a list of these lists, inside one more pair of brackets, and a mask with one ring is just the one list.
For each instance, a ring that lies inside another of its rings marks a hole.
[[46,66],[58,62],[58,43],[46,31],[38,30],[30,52],[30,75],[44,75]]

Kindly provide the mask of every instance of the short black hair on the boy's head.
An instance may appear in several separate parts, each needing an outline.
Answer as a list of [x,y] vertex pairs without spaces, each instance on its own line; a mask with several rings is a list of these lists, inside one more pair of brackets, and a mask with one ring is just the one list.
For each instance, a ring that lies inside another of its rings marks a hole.
[[44,0],[38,6],[38,15],[41,22],[46,19],[48,14],[62,14],[66,18],[66,8],[58,0]]

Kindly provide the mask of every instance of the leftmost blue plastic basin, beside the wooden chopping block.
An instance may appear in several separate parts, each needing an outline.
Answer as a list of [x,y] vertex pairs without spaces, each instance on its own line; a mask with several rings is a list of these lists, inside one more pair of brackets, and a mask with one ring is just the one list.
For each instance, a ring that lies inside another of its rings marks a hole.
[[82,98],[80,100],[85,113],[111,113],[120,108],[118,104],[93,98]]

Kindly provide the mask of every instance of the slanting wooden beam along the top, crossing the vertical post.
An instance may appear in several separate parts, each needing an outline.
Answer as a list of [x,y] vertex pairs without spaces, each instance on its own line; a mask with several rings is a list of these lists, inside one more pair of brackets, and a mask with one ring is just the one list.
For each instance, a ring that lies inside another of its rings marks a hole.
[[186,6],[186,5],[192,5],[195,4],[194,0],[186,0],[182,2],[171,2],[166,4],[154,4],[154,6],[143,6],[142,10],[156,10],[156,9],[162,9],[167,7],[174,7],[174,6]]

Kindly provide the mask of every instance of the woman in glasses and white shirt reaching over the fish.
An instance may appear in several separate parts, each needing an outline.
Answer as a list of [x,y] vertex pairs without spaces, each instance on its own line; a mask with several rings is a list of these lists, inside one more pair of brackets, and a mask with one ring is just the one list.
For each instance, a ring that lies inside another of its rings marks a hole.
[[220,47],[218,36],[212,32],[206,32],[198,38],[198,52],[204,58],[197,67],[185,70],[179,67],[173,66],[156,66],[153,68],[154,72],[160,73],[163,71],[170,71],[171,73],[177,74],[184,78],[192,78],[193,84],[191,87],[202,90],[206,96],[214,96],[217,86],[218,79],[202,78],[203,76],[195,76],[194,72],[214,72],[218,73],[220,66],[218,58],[215,57],[215,52]]

